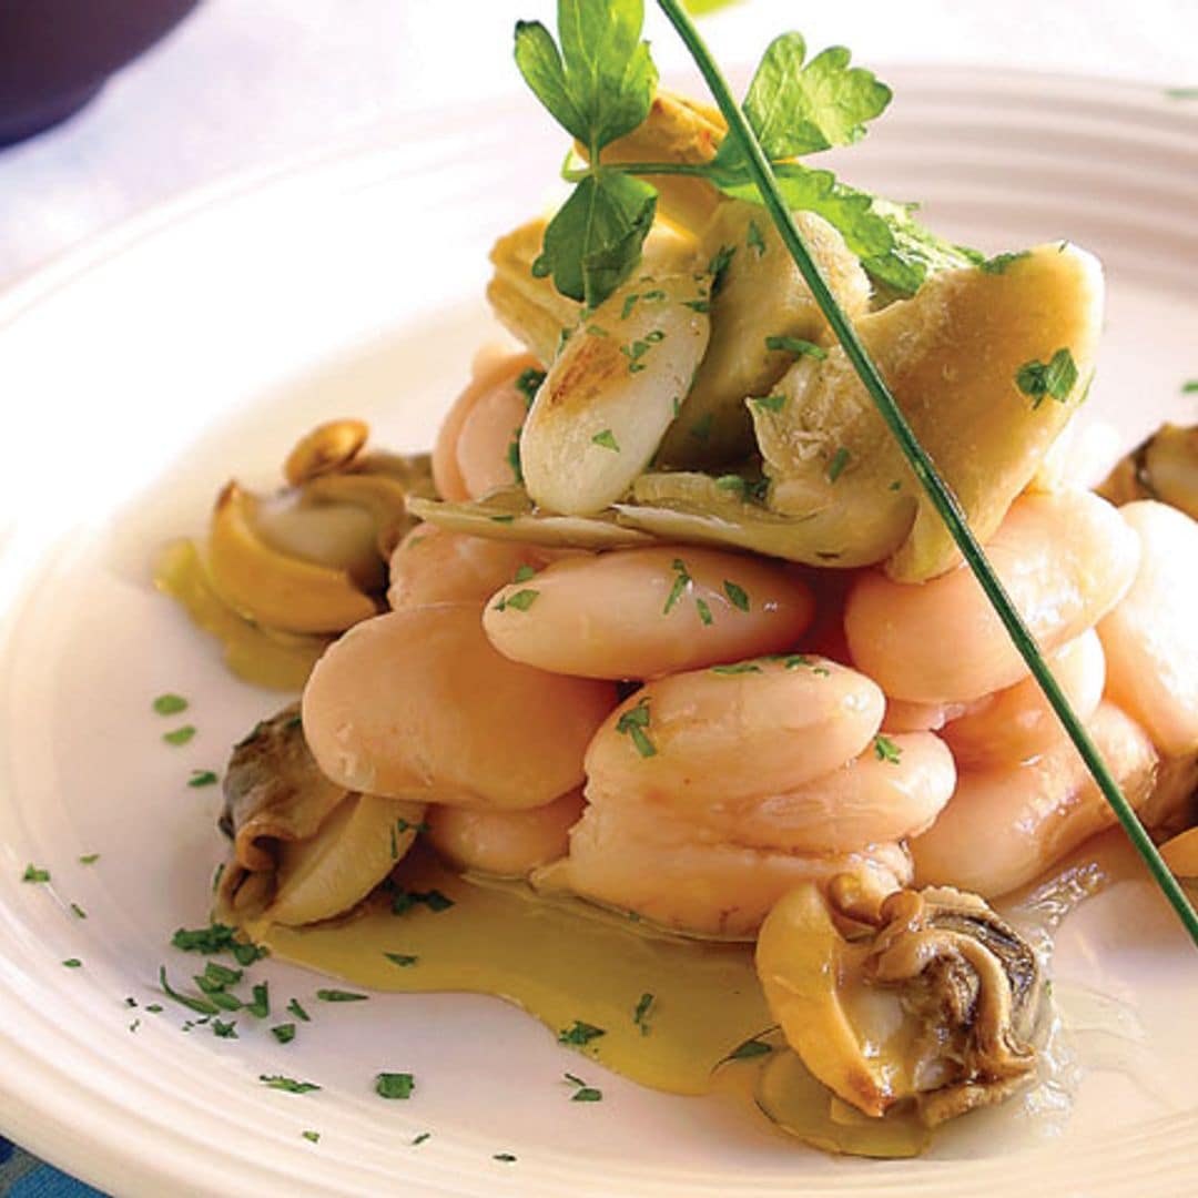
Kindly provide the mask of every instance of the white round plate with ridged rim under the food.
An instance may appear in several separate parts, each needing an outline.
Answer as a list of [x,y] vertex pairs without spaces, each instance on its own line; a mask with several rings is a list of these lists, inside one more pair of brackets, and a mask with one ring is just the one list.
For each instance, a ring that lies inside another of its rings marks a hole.
[[[1192,419],[1192,108],[1079,79],[890,74],[900,98],[849,177],[924,199],[936,228],[990,250],[1097,250],[1111,303],[1090,409],[1125,440]],[[204,920],[222,843],[218,797],[188,773],[219,769],[276,702],[151,591],[152,550],[201,526],[229,476],[270,479],[317,418],[358,413],[385,442],[426,444],[491,327],[488,246],[549,194],[561,150],[531,101],[409,122],[135,222],[0,298],[0,1130],[129,1194],[1198,1188],[1198,958],[1144,882],[1059,937],[1058,985],[1109,997],[1087,1008],[1064,1130],[950,1137],[921,1161],[829,1160],[748,1113],[615,1077],[601,1105],[570,1103],[559,1079],[577,1058],[479,997],[323,1008],[288,1047],[182,1035],[174,1010],[126,1006],[155,1000],[159,963],[193,963],[167,942]],[[186,748],[159,740],[164,690],[192,698]],[[50,887],[19,881],[30,861]],[[316,986],[267,972],[277,1005]],[[374,1097],[385,1069],[417,1075],[410,1102]],[[267,1091],[258,1076],[274,1072],[323,1090]]]

